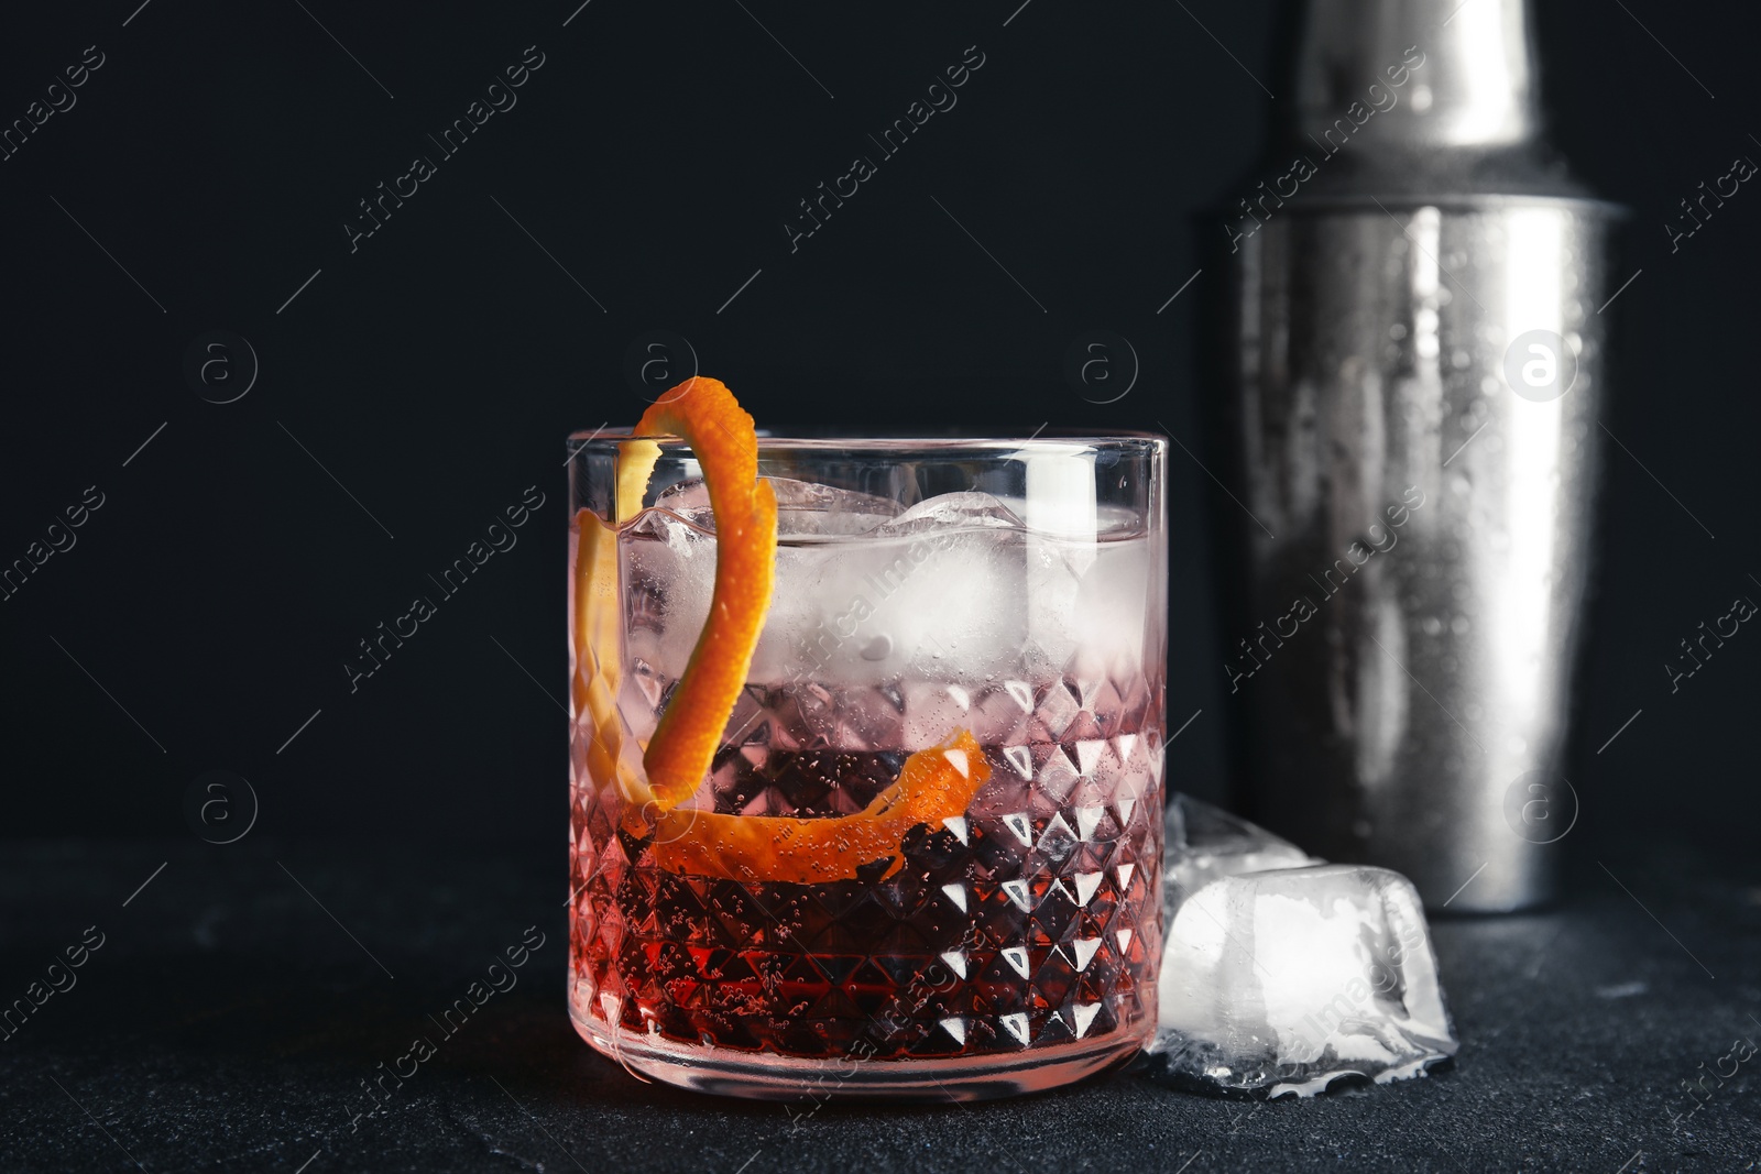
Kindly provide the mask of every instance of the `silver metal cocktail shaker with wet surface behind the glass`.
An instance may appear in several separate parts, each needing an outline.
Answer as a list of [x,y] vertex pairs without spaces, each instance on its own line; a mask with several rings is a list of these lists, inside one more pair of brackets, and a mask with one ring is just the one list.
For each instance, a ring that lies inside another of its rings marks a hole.
[[1618,209],[1541,139],[1525,0],[1307,0],[1280,88],[1203,227],[1238,781],[1433,908],[1530,905],[1576,818]]

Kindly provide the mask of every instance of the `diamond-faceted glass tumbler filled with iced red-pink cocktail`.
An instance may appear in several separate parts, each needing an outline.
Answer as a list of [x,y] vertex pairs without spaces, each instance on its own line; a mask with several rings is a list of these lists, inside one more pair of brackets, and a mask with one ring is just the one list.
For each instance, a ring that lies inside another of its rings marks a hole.
[[576,1030],[637,1074],[803,1104],[1002,1097],[1134,1056],[1160,958],[1166,440],[759,440],[775,595],[680,811],[858,820],[963,734],[988,767],[960,815],[822,884],[682,864],[630,794],[717,537],[678,440],[616,517],[627,440],[569,440]]

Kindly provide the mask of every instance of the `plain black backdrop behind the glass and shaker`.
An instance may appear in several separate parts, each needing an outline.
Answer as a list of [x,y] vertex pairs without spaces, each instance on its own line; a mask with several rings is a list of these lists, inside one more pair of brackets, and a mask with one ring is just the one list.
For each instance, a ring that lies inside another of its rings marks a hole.
[[[259,834],[539,836],[560,871],[562,442],[637,415],[630,341],[683,334],[780,429],[1166,424],[1192,445],[1192,322],[1217,275],[1159,306],[1197,268],[1196,232],[1222,232],[1197,209],[1249,171],[1261,83],[1282,84],[1270,0],[136,4],[9,12],[0,39],[0,121],[104,55],[0,162],[0,561],[104,495],[0,604],[5,836],[188,834],[187,789],[222,769],[254,785]],[[1634,209],[1617,282],[1641,271],[1608,310],[1604,424],[1631,454],[1608,451],[1567,771],[1580,852],[1622,834],[1742,852],[1761,811],[1761,635],[1673,695],[1662,669],[1733,597],[1761,598],[1761,195],[1673,255],[1662,227],[1761,158],[1754,21],[1657,0],[1537,14],[1553,136]],[[527,46],[544,65],[518,106],[350,252],[357,201],[435,157],[426,136]],[[866,136],[967,46],[984,65],[958,106],[791,252],[796,202],[873,155]],[[1095,327],[1141,357],[1108,407],[1062,377]],[[185,380],[211,329],[261,361],[236,403]],[[1178,451],[1171,475],[1169,716],[1203,713],[1169,780],[1219,796],[1210,486]],[[356,641],[528,486],[546,503],[519,546],[350,693]]]

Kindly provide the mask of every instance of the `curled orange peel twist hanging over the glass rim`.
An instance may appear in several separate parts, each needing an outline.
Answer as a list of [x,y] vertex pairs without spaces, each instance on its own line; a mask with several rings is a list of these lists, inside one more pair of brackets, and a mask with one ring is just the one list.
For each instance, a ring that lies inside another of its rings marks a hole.
[[715,514],[715,591],[685,674],[643,753],[643,780],[625,760],[616,711],[623,623],[616,526],[590,510],[576,516],[574,702],[592,723],[590,776],[616,780],[630,804],[627,822],[653,820],[655,862],[667,871],[821,884],[856,880],[859,868],[891,859],[884,873],[891,877],[903,868],[905,834],[917,824],[939,825],[963,815],[990,778],[970,732],[910,755],[898,780],[856,815],[794,818],[678,808],[710,773],[752,667],[775,588],[777,496],[757,477],[752,417],[720,380],[699,375],[652,405],[620,445],[618,523],[641,512],[660,458],[660,445],[648,437],[657,435],[683,438],[703,468]]

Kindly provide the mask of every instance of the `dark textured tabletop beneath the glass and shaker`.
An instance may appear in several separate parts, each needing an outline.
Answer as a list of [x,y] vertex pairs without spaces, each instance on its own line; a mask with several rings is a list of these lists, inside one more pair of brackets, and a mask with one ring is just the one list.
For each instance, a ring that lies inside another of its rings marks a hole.
[[[1761,1054],[1733,1051],[1761,1042],[1761,877],[1689,854],[1604,855],[1557,910],[1437,922],[1462,1054],[1430,1079],[1257,1104],[1127,1072],[814,1112],[643,1084],[574,1035],[562,855],[5,845],[4,1000],[102,945],[0,1042],[0,1169],[1761,1170]],[[442,1035],[430,1016],[528,926],[518,986]],[[356,1119],[424,1033],[437,1053]]]

